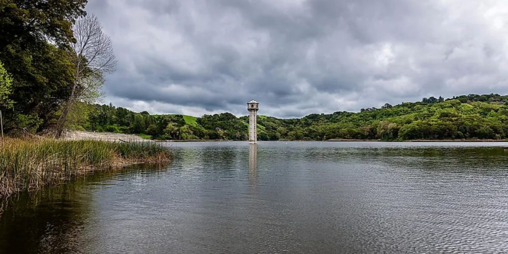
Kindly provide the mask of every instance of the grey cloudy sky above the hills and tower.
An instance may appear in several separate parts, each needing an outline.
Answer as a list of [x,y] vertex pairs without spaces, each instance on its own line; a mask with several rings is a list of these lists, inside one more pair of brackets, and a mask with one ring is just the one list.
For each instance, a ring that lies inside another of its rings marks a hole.
[[508,93],[504,0],[89,0],[118,59],[104,103],[300,117]]

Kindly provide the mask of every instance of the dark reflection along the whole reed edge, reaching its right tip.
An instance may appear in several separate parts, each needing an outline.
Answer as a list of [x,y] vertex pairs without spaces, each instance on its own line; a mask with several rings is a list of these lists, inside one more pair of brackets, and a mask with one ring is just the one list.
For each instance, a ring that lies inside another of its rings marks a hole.
[[[93,192],[91,183],[102,183],[132,174],[157,174],[167,164],[140,164],[120,170],[85,175],[72,182],[22,193],[3,201],[0,217],[0,253],[71,253],[86,246],[77,242],[90,219]],[[93,215],[92,215],[93,216]]]

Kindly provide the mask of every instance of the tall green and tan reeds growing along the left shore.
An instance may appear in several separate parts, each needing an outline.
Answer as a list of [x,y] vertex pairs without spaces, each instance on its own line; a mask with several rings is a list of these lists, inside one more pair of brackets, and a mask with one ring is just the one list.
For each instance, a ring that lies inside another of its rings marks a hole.
[[169,148],[154,142],[5,139],[0,144],[0,197],[93,170],[169,160]]

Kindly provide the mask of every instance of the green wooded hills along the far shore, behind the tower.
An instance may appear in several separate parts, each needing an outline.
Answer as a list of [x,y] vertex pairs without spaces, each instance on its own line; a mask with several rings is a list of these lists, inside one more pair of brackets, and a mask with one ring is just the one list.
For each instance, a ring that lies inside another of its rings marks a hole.
[[[112,105],[82,105],[73,129],[131,133],[152,139],[246,140],[248,118],[231,113],[193,117],[135,113]],[[508,96],[469,94],[452,99],[385,104],[361,112],[310,114],[300,119],[258,117],[259,140],[412,140],[508,138]]]

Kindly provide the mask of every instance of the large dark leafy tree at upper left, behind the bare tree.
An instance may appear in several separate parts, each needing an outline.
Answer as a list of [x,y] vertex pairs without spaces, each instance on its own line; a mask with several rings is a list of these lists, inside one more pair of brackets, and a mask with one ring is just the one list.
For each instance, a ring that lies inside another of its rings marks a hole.
[[75,40],[72,24],[85,15],[86,2],[0,1],[0,60],[13,78],[16,102],[6,116],[8,129],[46,126],[69,96],[74,72],[67,50]]

